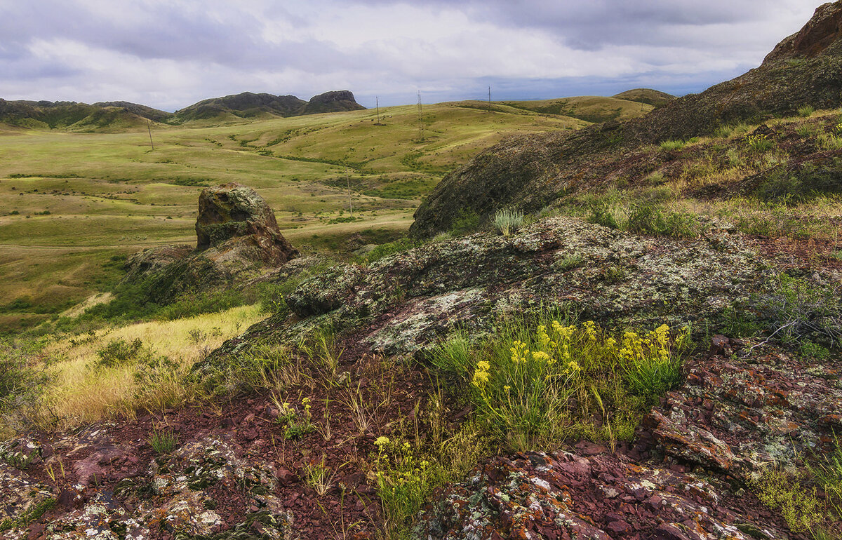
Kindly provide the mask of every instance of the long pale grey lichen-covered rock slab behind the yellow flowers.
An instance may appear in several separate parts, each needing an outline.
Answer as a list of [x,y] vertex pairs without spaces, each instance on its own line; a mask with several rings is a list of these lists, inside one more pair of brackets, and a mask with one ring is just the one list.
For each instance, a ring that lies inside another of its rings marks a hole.
[[272,334],[292,341],[321,318],[372,350],[417,352],[457,327],[481,336],[495,317],[542,305],[611,325],[699,320],[762,289],[767,279],[742,236],[708,225],[699,239],[672,240],[548,218],[514,236],[482,233],[369,267],[339,265],[288,295],[295,320],[267,320],[245,339]]

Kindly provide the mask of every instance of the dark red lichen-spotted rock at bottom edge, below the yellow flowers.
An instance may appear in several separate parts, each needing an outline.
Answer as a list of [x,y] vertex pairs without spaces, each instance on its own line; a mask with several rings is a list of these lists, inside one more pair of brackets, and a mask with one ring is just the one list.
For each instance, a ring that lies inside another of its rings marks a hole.
[[613,455],[498,457],[435,495],[416,534],[428,540],[787,537],[724,495],[727,484],[711,482]]

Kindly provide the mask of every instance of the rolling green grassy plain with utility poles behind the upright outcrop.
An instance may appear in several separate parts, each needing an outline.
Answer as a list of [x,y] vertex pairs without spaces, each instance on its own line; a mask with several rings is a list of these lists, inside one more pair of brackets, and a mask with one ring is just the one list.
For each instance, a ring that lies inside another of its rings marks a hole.
[[[611,102],[606,110],[615,109],[618,100],[602,99]],[[122,255],[195,241],[204,186],[253,187],[296,246],[335,250],[402,234],[445,172],[505,136],[589,123],[513,103],[495,103],[491,112],[473,102],[426,105],[421,119],[414,105],[391,107],[381,109],[379,122],[376,111],[362,110],[152,124],[154,150],[147,130],[4,126],[0,332],[108,289],[120,276]],[[627,114],[637,114],[640,103],[624,103]],[[348,186],[356,219],[339,221],[349,217]]]

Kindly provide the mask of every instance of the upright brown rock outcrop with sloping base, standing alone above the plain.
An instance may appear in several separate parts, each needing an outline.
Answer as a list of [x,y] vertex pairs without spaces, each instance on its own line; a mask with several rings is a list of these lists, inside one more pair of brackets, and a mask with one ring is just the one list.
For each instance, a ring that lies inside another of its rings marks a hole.
[[195,250],[163,246],[139,251],[126,263],[124,283],[138,283],[147,300],[168,304],[183,294],[246,283],[298,255],[266,201],[238,183],[202,191],[196,239]]

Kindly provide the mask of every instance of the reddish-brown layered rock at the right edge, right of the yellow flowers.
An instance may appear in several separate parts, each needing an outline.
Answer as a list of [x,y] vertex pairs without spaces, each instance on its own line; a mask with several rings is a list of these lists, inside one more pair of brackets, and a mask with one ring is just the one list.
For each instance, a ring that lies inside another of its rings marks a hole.
[[692,360],[687,380],[644,424],[668,455],[747,480],[794,466],[842,428],[839,366],[781,351]]

